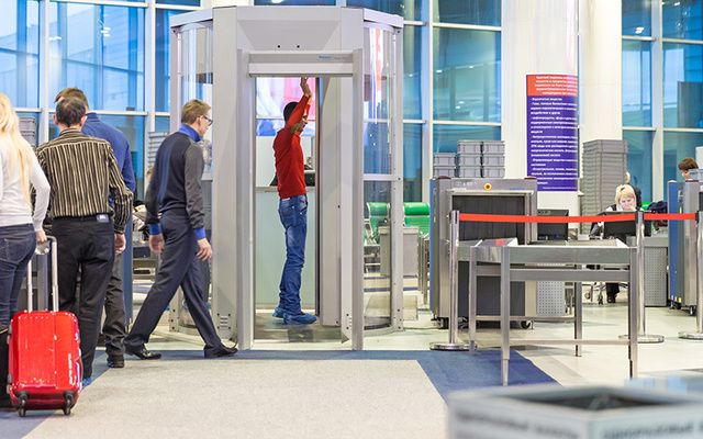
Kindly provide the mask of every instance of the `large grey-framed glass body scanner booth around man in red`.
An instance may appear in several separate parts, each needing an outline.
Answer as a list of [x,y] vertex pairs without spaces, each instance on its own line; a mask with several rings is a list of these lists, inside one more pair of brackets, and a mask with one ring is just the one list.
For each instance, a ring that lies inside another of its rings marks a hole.
[[[174,16],[171,32],[171,128],[192,98],[211,102],[215,120],[211,301],[220,336],[241,349],[255,339],[257,78],[316,80],[316,215],[308,221],[316,225],[320,325],[338,327],[342,341],[362,349],[364,205],[382,201],[390,205],[382,329],[403,329],[402,18],[338,7],[221,7]],[[268,233],[282,236],[282,226]]]

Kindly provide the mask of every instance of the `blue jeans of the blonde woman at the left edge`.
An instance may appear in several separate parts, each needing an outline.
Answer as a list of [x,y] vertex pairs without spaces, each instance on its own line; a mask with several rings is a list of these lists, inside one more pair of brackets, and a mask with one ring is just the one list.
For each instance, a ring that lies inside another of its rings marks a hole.
[[18,311],[20,286],[35,247],[36,235],[31,224],[0,227],[0,329],[10,325]]

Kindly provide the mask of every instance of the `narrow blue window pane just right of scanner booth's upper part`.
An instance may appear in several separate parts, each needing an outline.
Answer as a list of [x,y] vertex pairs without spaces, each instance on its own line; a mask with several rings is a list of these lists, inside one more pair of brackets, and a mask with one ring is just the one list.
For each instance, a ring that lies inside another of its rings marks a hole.
[[403,116],[422,119],[422,35],[425,27],[403,30]]

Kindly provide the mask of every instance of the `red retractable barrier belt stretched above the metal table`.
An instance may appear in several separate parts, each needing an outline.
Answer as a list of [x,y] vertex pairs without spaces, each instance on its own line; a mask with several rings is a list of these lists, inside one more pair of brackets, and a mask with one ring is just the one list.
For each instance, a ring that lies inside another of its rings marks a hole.
[[[645,213],[645,219],[695,221],[695,213]],[[459,221],[473,223],[618,223],[635,221],[634,213],[621,215],[540,216],[540,215],[496,215],[487,213],[462,213]]]

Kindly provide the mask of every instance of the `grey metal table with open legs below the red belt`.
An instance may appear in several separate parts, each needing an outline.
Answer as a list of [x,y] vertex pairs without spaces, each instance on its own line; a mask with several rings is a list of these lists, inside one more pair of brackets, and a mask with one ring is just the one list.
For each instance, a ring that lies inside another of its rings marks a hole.
[[[537,316],[510,315],[511,281],[572,281],[572,282],[628,282],[628,324],[626,339],[582,338],[582,304],[577,296],[574,309],[574,337],[570,339],[520,340],[515,345],[576,345],[577,356],[583,345],[628,346],[629,375],[637,375],[637,309],[638,264],[637,249],[627,247],[617,239],[595,241],[545,241],[518,245],[517,239],[489,239],[459,243],[458,259],[469,262],[469,344],[476,347],[477,322],[477,277],[501,278],[501,376],[507,385],[510,362],[511,319],[536,319]],[[480,264],[479,264],[480,263]],[[538,264],[537,264],[538,263]],[[550,266],[545,267],[544,263]],[[600,269],[587,269],[587,264],[598,264]],[[605,268],[620,270],[605,270]]]

